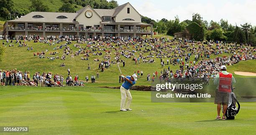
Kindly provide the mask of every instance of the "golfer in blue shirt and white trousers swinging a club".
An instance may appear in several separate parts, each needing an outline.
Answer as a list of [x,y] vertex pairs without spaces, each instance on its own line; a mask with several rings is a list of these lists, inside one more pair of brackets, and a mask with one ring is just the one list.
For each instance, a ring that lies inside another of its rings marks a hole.
[[[130,93],[130,87],[134,85],[137,81],[137,75],[133,74],[131,76],[124,77],[121,75],[122,79],[121,82],[123,82],[122,86],[120,87],[121,92],[121,105],[120,105],[120,111],[127,111],[132,110],[130,108],[131,100],[133,99]],[[127,103],[125,106],[125,100],[127,97]]]

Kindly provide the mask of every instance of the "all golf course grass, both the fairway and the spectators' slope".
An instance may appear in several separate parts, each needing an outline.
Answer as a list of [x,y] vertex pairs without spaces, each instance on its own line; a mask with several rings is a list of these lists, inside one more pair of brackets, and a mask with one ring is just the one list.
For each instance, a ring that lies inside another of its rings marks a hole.
[[[18,69],[34,72],[53,72],[67,76],[67,68],[71,75],[79,75],[84,80],[86,75],[96,75],[99,62],[103,55],[91,55],[90,60],[80,60],[81,56],[67,57],[66,60],[49,60],[33,56],[33,52],[46,49],[46,56],[57,45],[27,42],[33,50],[27,47],[4,47],[3,60],[0,69]],[[80,44],[86,47],[86,44]],[[132,46],[132,45],[131,45]],[[74,42],[69,45],[73,51]],[[132,47],[130,47],[132,49]],[[255,52],[254,52],[255,53]],[[138,55],[138,53],[136,53]],[[224,56],[229,54],[221,54]],[[114,57],[115,55],[111,56]],[[195,55],[192,55],[193,60]],[[216,57],[212,55],[212,57]],[[143,70],[145,75],[155,71],[160,72],[160,60],[154,63],[135,64],[132,59],[124,58],[125,67],[120,66],[124,75],[132,75],[134,71]],[[64,62],[65,67],[59,65]],[[87,70],[90,64],[91,70]],[[179,65],[170,66],[172,70]],[[234,77],[246,77],[234,74],[235,71],[256,72],[256,60],[241,61],[227,66],[227,71]],[[29,133],[57,134],[252,134],[256,132],[255,102],[241,102],[241,110],[235,120],[215,120],[216,105],[213,102],[151,102],[151,92],[131,90],[133,111],[121,112],[120,90],[102,88],[100,86],[120,86],[120,75],[117,64],[100,72],[96,83],[88,83],[84,87],[29,87],[0,86],[0,126],[28,126]],[[253,82],[251,82],[253,83]],[[138,78],[136,85],[151,85],[146,76]],[[232,133],[230,130],[232,129]],[[6,133],[7,134],[7,133]],[[10,133],[8,133],[10,134]],[[24,133],[26,134],[26,133]]]

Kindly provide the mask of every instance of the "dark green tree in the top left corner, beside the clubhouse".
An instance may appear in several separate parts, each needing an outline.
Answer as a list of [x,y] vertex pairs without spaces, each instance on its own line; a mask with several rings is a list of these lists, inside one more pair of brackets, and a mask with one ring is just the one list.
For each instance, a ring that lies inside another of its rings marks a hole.
[[6,19],[13,12],[13,0],[0,0],[0,18]]

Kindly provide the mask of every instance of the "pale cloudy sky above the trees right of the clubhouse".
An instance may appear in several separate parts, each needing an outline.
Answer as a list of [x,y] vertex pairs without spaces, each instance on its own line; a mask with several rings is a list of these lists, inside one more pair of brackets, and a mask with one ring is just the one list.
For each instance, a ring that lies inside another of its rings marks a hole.
[[251,23],[256,25],[256,0],[116,0],[119,5],[130,2],[143,16],[154,20],[192,20],[199,13],[203,20],[220,22],[228,20],[232,25]]

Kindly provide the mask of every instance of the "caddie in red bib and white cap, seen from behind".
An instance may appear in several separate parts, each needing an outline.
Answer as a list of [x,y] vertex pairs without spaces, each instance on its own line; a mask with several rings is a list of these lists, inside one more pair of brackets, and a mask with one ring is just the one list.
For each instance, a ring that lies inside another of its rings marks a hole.
[[236,83],[235,78],[229,72],[227,72],[227,67],[222,65],[220,67],[221,72],[219,72],[214,78],[214,84],[217,85],[216,95],[214,103],[217,104],[217,117],[216,120],[221,120],[220,118],[220,108],[223,105],[223,116],[222,120],[226,120],[225,113],[228,108],[228,98],[231,93],[232,84]]

